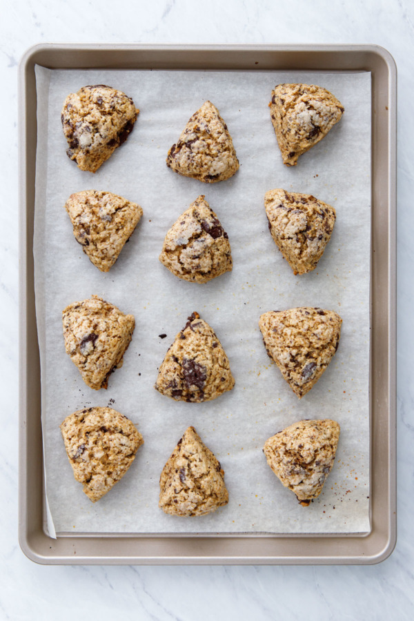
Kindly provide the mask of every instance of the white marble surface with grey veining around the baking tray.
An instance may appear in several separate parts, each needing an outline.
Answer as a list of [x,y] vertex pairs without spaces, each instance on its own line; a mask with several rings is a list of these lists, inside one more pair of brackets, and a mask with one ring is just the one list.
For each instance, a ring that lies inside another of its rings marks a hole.
[[[414,3],[409,0],[3,0],[0,20],[0,618],[209,620],[414,618]],[[17,63],[43,42],[376,43],[399,72],[399,536],[375,566],[39,566],[17,542]],[[410,99],[411,98],[411,99]],[[4,148],[6,146],[6,148]],[[4,442],[4,438],[8,438]]]

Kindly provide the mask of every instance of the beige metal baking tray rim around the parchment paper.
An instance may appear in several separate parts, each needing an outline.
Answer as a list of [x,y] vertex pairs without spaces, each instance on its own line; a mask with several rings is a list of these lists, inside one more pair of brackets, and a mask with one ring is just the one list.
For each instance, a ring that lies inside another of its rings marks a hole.
[[[64,535],[46,531],[40,359],[34,308],[34,66],[77,69],[367,70],[372,76],[371,532],[367,535]],[[19,66],[19,541],[42,564],[373,564],[396,532],[397,70],[378,46],[40,45]]]

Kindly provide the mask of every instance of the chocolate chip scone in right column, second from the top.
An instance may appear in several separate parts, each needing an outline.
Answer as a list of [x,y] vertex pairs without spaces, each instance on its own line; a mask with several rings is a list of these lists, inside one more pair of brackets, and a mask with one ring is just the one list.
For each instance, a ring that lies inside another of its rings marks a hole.
[[335,209],[314,196],[269,190],[264,195],[269,230],[293,273],[317,266],[335,224]]

